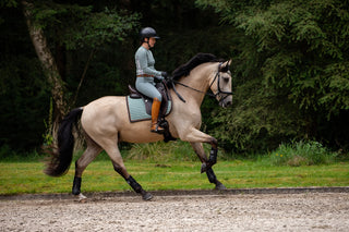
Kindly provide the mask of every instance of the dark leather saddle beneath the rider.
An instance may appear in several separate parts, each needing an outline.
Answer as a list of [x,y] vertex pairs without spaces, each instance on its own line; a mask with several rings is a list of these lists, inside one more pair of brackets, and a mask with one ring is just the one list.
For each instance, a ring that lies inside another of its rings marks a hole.
[[[164,85],[163,83],[157,83],[155,87],[163,96],[161,106],[160,106],[160,110],[159,110],[159,119],[163,119],[167,114],[170,113],[170,112],[168,112],[168,107],[169,107],[169,103],[172,101],[172,98],[171,98],[171,95],[168,93],[167,86]],[[130,90],[130,98],[133,98],[133,99],[142,98],[143,99],[146,113],[152,115],[153,99],[143,95],[142,93],[140,93],[137,89],[135,89],[131,85],[129,85],[129,90]]]

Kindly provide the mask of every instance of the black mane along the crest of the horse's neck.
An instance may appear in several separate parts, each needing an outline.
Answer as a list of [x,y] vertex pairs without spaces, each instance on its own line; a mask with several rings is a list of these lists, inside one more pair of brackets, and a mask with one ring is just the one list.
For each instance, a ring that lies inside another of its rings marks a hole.
[[194,68],[202,63],[206,62],[218,62],[221,60],[218,60],[216,56],[210,53],[197,53],[195,57],[193,57],[190,61],[186,63],[180,65],[172,72],[172,80],[179,80],[182,76],[188,76],[190,74],[190,71],[192,71]]

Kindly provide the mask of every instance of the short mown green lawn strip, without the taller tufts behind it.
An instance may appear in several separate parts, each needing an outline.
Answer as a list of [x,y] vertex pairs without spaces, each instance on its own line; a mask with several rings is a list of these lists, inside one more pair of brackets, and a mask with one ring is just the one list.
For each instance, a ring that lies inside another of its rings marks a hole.
[[[210,190],[198,161],[155,162],[127,160],[125,166],[145,190]],[[0,162],[0,194],[70,193],[74,166],[67,175],[50,178],[39,161]],[[321,166],[270,166],[264,161],[218,161],[214,167],[218,180],[228,188],[349,186],[349,161]],[[130,191],[109,160],[92,162],[83,175],[83,192]]]

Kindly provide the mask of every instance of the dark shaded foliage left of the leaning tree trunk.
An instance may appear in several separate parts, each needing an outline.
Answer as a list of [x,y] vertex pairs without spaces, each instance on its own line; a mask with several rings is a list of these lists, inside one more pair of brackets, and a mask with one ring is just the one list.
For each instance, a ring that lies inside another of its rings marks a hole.
[[50,93],[23,15],[15,8],[0,12],[0,147],[23,151],[43,139]]

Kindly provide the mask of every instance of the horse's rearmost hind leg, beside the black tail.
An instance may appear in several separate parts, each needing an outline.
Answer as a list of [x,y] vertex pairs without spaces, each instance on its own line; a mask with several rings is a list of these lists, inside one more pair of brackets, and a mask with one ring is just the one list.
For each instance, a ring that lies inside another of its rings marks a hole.
[[86,167],[100,154],[101,147],[96,144],[87,134],[85,134],[87,148],[75,162],[75,176],[72,187],[73,195],[81,194],[82,175]]

